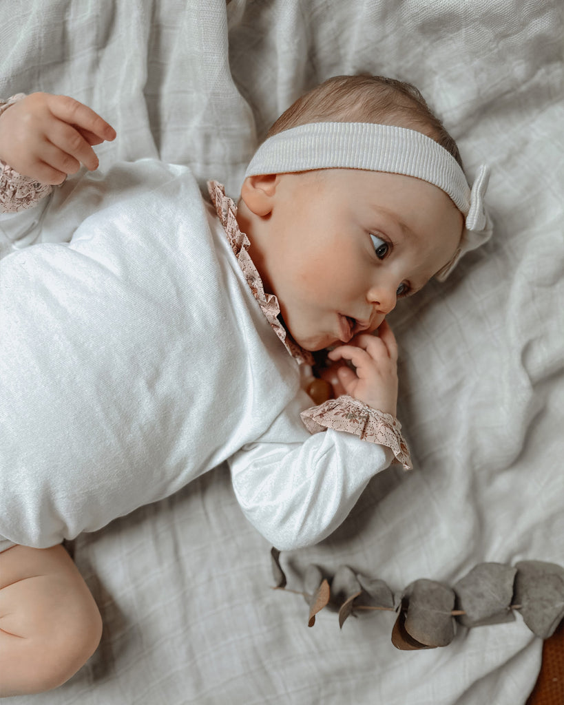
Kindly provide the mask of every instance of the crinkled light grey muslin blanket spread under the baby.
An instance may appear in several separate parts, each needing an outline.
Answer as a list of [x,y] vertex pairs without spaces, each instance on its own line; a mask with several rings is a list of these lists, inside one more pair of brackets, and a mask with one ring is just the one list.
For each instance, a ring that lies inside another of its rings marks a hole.
[[[72,94],[118,130],[103,166],[160,156],[232,197],[269,124],[317,82],[417,85],[470,177],[491,164],[494,238],[391,316],[415,469],[376,477],[336,534],[284,565],[298,589],[315,562],[401,591],[484,560],[564,563],[560,0],[32,0],[3,5],[0,26],[0,96]],[[269,544],[223,467],[73,548],[102,646],[25,705],[520,705],[539,670],[519,618],[412,654],[391,645],[388,613],[340,631],[322,612],[307,629],[302,599],[269,589]]]

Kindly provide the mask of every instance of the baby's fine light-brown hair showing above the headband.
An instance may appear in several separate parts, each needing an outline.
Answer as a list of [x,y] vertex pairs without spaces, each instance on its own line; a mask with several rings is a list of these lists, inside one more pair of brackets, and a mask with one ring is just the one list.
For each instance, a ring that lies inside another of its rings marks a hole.
[[417,88],[395,78],[362,74],[333,76],[298,98],[266,137],[316,122],[361,122],[417,130],[450,152],[462,166],[456,142]]

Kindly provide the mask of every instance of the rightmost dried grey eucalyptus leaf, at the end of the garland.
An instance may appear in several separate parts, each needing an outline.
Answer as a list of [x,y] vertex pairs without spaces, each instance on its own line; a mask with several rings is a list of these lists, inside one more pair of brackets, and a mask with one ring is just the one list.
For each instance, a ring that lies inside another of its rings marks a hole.
[[564,568],[542,560],[522,560],[515,568],[513,599],[521,605],[527,627],[548,639],[564,618]]

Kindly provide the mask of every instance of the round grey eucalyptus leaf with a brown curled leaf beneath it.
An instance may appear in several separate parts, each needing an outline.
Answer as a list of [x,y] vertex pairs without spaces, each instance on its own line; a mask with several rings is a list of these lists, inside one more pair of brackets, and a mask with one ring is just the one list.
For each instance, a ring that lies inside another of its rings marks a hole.
[[454,638],[450,614],[455,602],[453,589],[434,580],[415,580],[403,593],[407,603],[405,630],[426,646],[446,646]]

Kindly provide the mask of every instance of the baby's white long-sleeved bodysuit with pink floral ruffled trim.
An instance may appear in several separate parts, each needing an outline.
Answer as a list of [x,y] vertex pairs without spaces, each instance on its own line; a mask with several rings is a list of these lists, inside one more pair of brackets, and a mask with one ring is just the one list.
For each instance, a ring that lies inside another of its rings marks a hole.
[[223,460],[250,522],[297,548],[394,453],[407,466],[396,420],[350,397],[302,420],[300,349],[264,313],[235,204],[212,197],[143,159],[54,190],[31,235],[0,221],[0,548],[94,531]]

